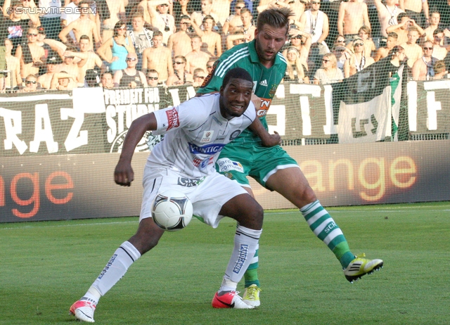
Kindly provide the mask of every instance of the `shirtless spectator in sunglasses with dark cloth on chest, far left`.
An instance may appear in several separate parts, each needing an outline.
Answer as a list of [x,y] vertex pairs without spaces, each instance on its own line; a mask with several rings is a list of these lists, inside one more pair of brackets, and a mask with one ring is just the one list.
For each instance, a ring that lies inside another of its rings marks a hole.
[[20,74],[25,79],[27,75],[37,75],[39,67],[45,64],[45,52],[42,46],[37,45],[37,28],[27,30],[27,42],[17,47],[15,57],[20,60]]

